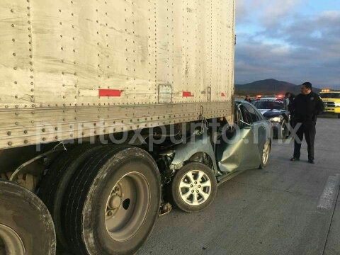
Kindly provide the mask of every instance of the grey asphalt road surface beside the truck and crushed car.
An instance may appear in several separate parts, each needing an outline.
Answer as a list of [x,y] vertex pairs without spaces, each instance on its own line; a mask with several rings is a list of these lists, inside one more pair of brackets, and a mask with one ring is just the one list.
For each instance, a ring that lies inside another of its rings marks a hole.
[[210,208],[159,217],[139,254],[340,254],[340,120],[319,118],[316,164],[275,141],[264,170],[223,183]]

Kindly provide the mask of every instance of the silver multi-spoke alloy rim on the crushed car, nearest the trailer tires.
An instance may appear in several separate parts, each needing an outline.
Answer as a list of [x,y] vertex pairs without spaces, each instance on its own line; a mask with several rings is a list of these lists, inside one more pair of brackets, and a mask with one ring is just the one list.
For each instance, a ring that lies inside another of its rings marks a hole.
[[188,205],[201,205],[208,200],[211,193],[211,181],[200,170],[188,171],[179,183],[179,194]]

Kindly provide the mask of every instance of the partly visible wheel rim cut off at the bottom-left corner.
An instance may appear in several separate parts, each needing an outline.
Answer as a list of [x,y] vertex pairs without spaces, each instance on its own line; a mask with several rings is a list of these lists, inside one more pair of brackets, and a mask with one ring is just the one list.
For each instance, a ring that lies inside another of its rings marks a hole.
[[[4,243],[5,254],[25,255],[23,240],[11,227],[0,224],[0,241]],[[0,247],[1,251],[1,247]]]

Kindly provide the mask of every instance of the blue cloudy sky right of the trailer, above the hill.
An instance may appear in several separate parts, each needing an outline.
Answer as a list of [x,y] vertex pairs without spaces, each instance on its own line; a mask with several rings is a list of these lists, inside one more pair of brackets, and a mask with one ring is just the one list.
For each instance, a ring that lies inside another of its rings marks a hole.
[[236,0],[235,83],[340,89],[339,0]]

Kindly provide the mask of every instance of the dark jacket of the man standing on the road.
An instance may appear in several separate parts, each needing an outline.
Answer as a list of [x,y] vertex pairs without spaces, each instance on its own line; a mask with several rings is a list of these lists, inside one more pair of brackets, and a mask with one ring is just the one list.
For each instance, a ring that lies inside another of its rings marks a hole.
[[313,91],[308,95],[298,94],[290,104],[294,118],[297,120],[316,120],[316,116],[324,111],[324,103]]

